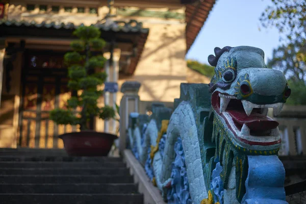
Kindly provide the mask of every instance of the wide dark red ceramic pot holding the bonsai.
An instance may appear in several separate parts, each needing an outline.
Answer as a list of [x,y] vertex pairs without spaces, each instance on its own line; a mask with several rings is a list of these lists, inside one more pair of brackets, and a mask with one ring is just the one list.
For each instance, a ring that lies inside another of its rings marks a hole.
[[69,156],[107,156],[116,135],[81,131],[60,135]]

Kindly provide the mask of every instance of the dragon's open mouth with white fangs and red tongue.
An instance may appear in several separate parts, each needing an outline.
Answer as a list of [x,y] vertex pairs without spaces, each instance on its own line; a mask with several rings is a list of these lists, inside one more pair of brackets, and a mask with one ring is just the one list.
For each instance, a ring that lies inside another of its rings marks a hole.
[[212,106],[239,142],[262,146],[281,142],[278,122],[268,117],[267,113],[268,108],[273,108],[276,113],[281,112],[283,103],[257,105],[215,91],[212,95]]

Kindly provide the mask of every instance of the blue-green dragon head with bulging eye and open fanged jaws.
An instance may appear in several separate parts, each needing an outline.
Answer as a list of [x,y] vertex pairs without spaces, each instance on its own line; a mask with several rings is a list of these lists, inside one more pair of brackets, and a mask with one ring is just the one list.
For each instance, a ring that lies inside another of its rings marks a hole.
[[250,46],[215,48],[208,57],[215,67],[210,83],[212,107],[237,147],[250,150],[277,149],[281,138],[278,114],[291,90],[281,71],[267,68],[264,52]]

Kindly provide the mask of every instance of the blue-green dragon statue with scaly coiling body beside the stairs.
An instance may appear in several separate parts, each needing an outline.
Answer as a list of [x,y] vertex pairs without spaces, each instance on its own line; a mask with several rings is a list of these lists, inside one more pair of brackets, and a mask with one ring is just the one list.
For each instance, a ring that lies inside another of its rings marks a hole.
[[130,115],[129,145],[168,203],[287,203],[278,114],[291,90],[250,46],[216,47],[210,84],[181,84],[174,111]]

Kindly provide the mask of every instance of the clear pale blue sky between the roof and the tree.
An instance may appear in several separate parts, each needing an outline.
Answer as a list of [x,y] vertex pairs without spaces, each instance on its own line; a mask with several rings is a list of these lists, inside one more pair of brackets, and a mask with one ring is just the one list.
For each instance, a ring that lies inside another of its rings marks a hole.
[[267,62],[281,44],[275,28],[261,27],[259,18],[269,4],[270,0],[217,0],[186,59],[208,63],[215,47],[248,45],[263,49]]

